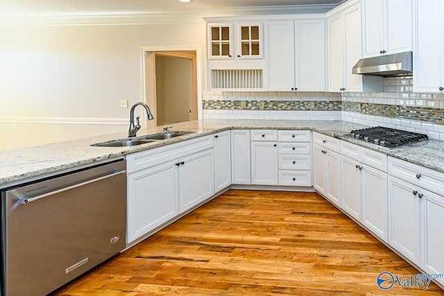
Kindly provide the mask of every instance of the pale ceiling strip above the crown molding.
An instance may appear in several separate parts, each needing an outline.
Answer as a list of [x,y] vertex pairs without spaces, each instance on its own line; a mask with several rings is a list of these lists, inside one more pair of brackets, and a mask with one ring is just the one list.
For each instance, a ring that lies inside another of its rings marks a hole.
[[[325,12],[344,0],[1,0],[0,12],[7,15],[54,13],[149,12],[151,14],[217,15],[221,12],[293,13],[296,9]],[[0,14],[1,14],[0,13]]]

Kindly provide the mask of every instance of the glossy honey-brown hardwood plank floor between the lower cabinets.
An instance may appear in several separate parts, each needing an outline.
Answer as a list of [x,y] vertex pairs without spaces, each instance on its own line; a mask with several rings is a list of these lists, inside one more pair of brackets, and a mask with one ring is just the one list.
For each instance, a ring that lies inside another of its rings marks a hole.
[[53,295],[444,295],[317,193],[230,190]]

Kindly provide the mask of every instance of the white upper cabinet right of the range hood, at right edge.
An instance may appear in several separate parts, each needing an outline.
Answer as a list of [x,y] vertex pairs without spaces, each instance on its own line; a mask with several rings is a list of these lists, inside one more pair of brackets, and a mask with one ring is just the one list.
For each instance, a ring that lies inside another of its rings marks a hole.
[[444,1],[416,0],[413,92],[444,91]]

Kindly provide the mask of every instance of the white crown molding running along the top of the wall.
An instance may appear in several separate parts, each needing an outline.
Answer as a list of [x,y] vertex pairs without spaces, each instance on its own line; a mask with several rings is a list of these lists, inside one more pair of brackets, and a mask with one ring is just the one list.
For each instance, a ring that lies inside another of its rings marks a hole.
[[0,26],[81,25],[81,24],[157,24],[203,22],[207,17],[245,17],[262,15],[325,14],[334,4],[303,6],[255,6],[219,8],[217,10],[154,10],[154,11],[96,11],[51,13],[1,13]]

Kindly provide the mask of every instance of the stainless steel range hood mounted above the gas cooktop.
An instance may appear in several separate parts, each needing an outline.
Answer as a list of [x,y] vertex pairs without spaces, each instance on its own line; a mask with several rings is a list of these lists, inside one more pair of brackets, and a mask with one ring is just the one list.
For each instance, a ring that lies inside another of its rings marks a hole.
[[355,64],[352,73],[376,76],[411,75],[413,73],[411,56],[411,51],[406,51],[364,58]]

